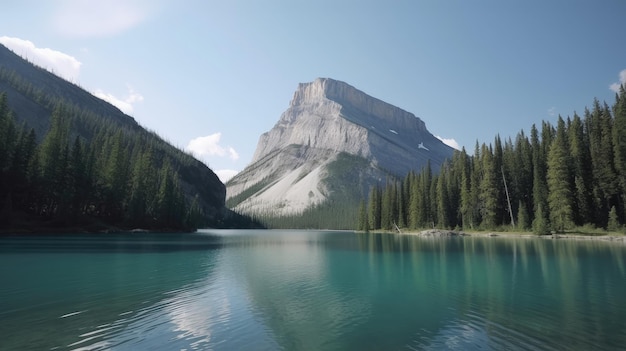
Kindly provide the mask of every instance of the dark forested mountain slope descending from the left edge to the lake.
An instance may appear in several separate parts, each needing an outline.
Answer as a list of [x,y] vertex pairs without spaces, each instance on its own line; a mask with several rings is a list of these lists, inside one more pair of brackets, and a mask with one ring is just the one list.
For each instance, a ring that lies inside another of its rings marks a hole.
[[[241,219],[225,207],[225,186],[205,164],[3,45],[0,103],[4,220],[62,217],[63,226],[89,216],[159,229],[180,228],[189,211],[197,225]],[[38,146],[25,154],[30,135]]]

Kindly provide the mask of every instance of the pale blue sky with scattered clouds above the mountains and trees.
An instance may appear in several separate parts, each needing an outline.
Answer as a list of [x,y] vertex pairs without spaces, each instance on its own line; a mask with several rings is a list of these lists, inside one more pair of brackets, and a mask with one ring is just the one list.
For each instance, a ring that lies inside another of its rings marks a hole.
[[226,180],[318,77],[470,153],[594,98],[612,104],[625,18],[623,0],[9,0],[0,43]]

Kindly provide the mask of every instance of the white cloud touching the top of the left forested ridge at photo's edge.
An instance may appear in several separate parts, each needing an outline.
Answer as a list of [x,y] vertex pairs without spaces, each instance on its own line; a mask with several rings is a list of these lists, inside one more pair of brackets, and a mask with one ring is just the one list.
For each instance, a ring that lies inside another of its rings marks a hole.
[[73,56],[49,48],[38,48],[31,41],[0,37],[0,43],[30,62],[53,72],[57,76],[76,82],[81,63]]

